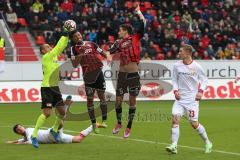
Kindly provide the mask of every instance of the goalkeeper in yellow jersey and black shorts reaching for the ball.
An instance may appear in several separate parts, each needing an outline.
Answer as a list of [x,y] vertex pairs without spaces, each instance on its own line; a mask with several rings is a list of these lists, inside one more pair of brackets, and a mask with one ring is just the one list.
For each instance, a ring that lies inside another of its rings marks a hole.
[[64,103],[62,99],[62,94],[59,90],[59,64],[57,61],[58,55],[60,55],[63,50],[68,45],[68,32],[69,23],[64,23],[63,35],[58,41],[57,45],[52,48],[49,44],[43,44],[40,46],[40,52],[42,54],[42,69],[43,69],[43,80],[41,84],[41,96],[42,96],[42,114],[38,117],[35,128],[31,135],[32,145],[35,148],[39,147],[37,141],[38,130],[42,127],[50,117],[52,108],[56,107],[58,111],[58,116],[56,116],[55,123],[50,129],[50,133],[53,135],[56,142],[59,142],[58,126],[65,116]]

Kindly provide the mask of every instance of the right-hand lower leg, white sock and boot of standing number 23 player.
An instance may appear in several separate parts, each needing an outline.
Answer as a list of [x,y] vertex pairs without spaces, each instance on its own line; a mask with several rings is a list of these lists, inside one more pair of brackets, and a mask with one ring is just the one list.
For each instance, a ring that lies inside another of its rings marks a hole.
[[194,129],[196,129],[196,131],[198,132],[198,134],[201,136],[201,138],[202,138],[203,141],[205,142],[205,153],[211,153],[211,152],[212,152],[213,144],[212,144],[212,142],[210,142],[210,140],[208,139],[207,132],[206,132],[204,126],[201,125],[201,124],[198,123],[198,122],[191,122],[191,124],[192,124],[192,127],[193,127]]

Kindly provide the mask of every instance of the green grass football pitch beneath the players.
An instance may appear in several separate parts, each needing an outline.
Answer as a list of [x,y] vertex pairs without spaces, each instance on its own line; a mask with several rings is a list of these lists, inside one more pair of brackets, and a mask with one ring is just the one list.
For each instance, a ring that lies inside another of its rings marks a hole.
[[[2,160],[239,160],[240,159],[240,101],[214,100],[200,102],[200,122],[205,126],[213,152],[204,154],[204,143],[188,121],[183,118],[180,125],[178,154],[165,151],[170,143],[171,108],[173,101],[138,102],[137,114],[129,139],[123,139],[123,131],[112,135],[116,122],[115,111],[108,117],[108,128],[99,135],[91,134],[79,144],[40,144],[39,149],[31,145],[5,144],[7,140],[19,139],[12,126],[21,123],[35,124],[40,114],[40,103],[0,104],[0,159]],[[127,122],[127,105],[123,106],[124,127]],[[71,111],[86,112],[85,103],[74,103]],[[100,117],[99,117],[100,118]],[[44,125],[51,127],[52,116]],[[67,121],[65,132],[72,135],[89,126],[89,121]]]

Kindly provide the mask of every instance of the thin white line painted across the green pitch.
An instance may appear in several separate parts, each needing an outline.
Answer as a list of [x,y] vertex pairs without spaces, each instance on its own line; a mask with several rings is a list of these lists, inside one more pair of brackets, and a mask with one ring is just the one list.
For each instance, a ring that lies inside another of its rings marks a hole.
[[[33,125],[25,125],[25,126],[34,127]],[[6,125],[5,126],[0,126],[0,128],[10,128],[10,127],[12,127],[12,126],[6,126]],[[42,128],[48,129],[47,127],[42,127]],[[64,129],[64,131],[65,132],[69,132],[69,133],[79,133],[79,131],[73,131],[73,130],[65,130]],[[107,138],[112,138],[112,139],[123,139],[123,137],[109,136],[109,135],[103,135],[103,134],[91,134],[91,135],[100,136],[100,137],[107,137]],[[164,145],[164,146],[169,145],[169,143],[150,141],[150,140],[144,140],[144,139],[128,138],[127,140],[134,141],[134,142],[149,143],[149,144],[158,144],[158,145]],[[199,147],[191,147],[191,146],[185,146],[185,145],[178,145],[178,147],[192,149],[192,150],[204,151],[203,148],[199,148]],[[217,149],[213,150],[213,152],[222,153],[222,154],[228,154],[228,155],[234,155],[234,156],[240,156],[240,153],[228,152],[228,151],[217,150]]]

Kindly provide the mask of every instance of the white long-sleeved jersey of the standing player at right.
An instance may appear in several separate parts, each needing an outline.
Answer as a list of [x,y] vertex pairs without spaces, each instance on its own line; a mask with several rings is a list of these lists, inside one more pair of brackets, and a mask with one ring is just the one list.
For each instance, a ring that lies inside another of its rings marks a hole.
[[180,103],[195,101],[198,90],[205,90],[207,77],[202,67],[193,61],[186,65],[183,61],[178,61],[173,66],[173,90],[179,91]]

